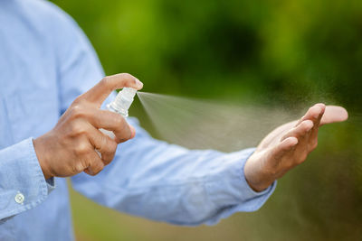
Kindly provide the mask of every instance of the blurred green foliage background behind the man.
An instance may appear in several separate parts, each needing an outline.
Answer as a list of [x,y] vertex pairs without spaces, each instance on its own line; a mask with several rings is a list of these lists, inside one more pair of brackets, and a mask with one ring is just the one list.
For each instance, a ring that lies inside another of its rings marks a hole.
[[[145,91],[265,107],[348,108],[308,162],[254,213],[174,227],[105,209],[71,191],[78,240],[361,240],[362,2],[53,1],[80,24],[106,74]],[[151,130],[139,103],[131,109]]]

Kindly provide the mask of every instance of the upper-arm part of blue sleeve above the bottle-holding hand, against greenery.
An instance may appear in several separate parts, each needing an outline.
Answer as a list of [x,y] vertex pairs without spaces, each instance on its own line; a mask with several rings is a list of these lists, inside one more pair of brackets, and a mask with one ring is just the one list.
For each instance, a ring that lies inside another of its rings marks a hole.
[[58,62],[57,82],[62,114],[76,97],[96,85],[104,77],[104,72],[87,36],[60,8],[52,28],[56,28],[52,42]]

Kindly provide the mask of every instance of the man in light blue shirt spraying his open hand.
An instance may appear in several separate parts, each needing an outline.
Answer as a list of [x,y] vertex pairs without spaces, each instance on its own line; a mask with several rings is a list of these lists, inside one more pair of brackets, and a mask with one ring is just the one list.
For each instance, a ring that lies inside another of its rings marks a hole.
[[142,83],[103,78],[90,42],[56,6],[0,0],[0,34],[0,240],[73,239],[60,177],[101,205],[176,225],[254,211],[317,146],[319,125],[347,119],[342,107],[318,104],[256,150],[190,151],[100,110],[112,90]]

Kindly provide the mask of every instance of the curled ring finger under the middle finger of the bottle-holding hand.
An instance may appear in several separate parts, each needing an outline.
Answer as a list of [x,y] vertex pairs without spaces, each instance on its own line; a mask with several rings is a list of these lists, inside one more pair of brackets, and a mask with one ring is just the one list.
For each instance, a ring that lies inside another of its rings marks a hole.
[[114,158],[117,150],[117,143],[106,134],[102,134],[100,130],[91,126],[88,132],[90,144],[101,154],[101,160],[104,165],[108,165]]

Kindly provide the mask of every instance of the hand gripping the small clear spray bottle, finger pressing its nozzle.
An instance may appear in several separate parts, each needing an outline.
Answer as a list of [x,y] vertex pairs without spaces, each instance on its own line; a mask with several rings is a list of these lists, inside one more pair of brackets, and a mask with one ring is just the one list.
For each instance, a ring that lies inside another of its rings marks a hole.
[[[129,74],[105,77],[77,97],[50,132],[33,140],[45,179],[81,171],[95,175],[112,161],[117,144],[135,136],[135,129],[122,116],[100,109],[111,91],[124,87],[140,89],[143,85]],[[100,128],[112,131],[115,139],[102,134]]]

